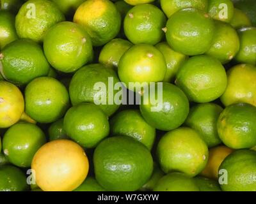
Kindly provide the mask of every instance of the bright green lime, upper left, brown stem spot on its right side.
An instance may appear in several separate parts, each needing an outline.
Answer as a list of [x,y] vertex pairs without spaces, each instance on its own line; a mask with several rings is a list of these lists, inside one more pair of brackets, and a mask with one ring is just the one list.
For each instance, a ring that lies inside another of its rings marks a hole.
[[92,61],[92,41],[80,25],[60,22],[45,34],[44,53],[52,67],[70,73]]

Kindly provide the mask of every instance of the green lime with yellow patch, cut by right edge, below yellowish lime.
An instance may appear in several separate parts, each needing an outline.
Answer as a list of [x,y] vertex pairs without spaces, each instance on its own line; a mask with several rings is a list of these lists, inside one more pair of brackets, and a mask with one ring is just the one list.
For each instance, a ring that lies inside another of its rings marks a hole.
[[256,145],[255,122],[255,106],[248,103],[230,105],[218,119],[220,139],[232,149],[250,149]]

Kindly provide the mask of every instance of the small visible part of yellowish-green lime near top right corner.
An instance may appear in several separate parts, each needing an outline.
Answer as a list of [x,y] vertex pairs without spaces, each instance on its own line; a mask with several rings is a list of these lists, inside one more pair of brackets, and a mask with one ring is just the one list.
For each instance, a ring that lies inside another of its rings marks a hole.
[[235,8],[235,10],[234,10],[234,16],[233,16],[230,24],[235,29],[252,26],[252,22],[251,22],[250,18],[248,18],[248,16],[243,11],[241,11],[237,8]]

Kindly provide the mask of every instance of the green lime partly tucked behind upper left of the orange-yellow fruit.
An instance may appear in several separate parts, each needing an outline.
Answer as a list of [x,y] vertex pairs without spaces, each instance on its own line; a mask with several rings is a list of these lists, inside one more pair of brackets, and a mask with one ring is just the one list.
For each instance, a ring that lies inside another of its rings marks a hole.
[[20,122],[4,134],[3,152],[12,164],[22,168],[29,167],[36,151],[45,142],[44,132],[38,126]]

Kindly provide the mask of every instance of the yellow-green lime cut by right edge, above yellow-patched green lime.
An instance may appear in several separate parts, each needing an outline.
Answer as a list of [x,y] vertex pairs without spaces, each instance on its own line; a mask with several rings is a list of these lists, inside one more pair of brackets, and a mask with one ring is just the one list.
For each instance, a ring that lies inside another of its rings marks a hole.
[[256,67],[238,64],[228,70],[227,76],[227,89],[220,98],[221,102],[225,106],[234,103],[250,103],[256,106]]

